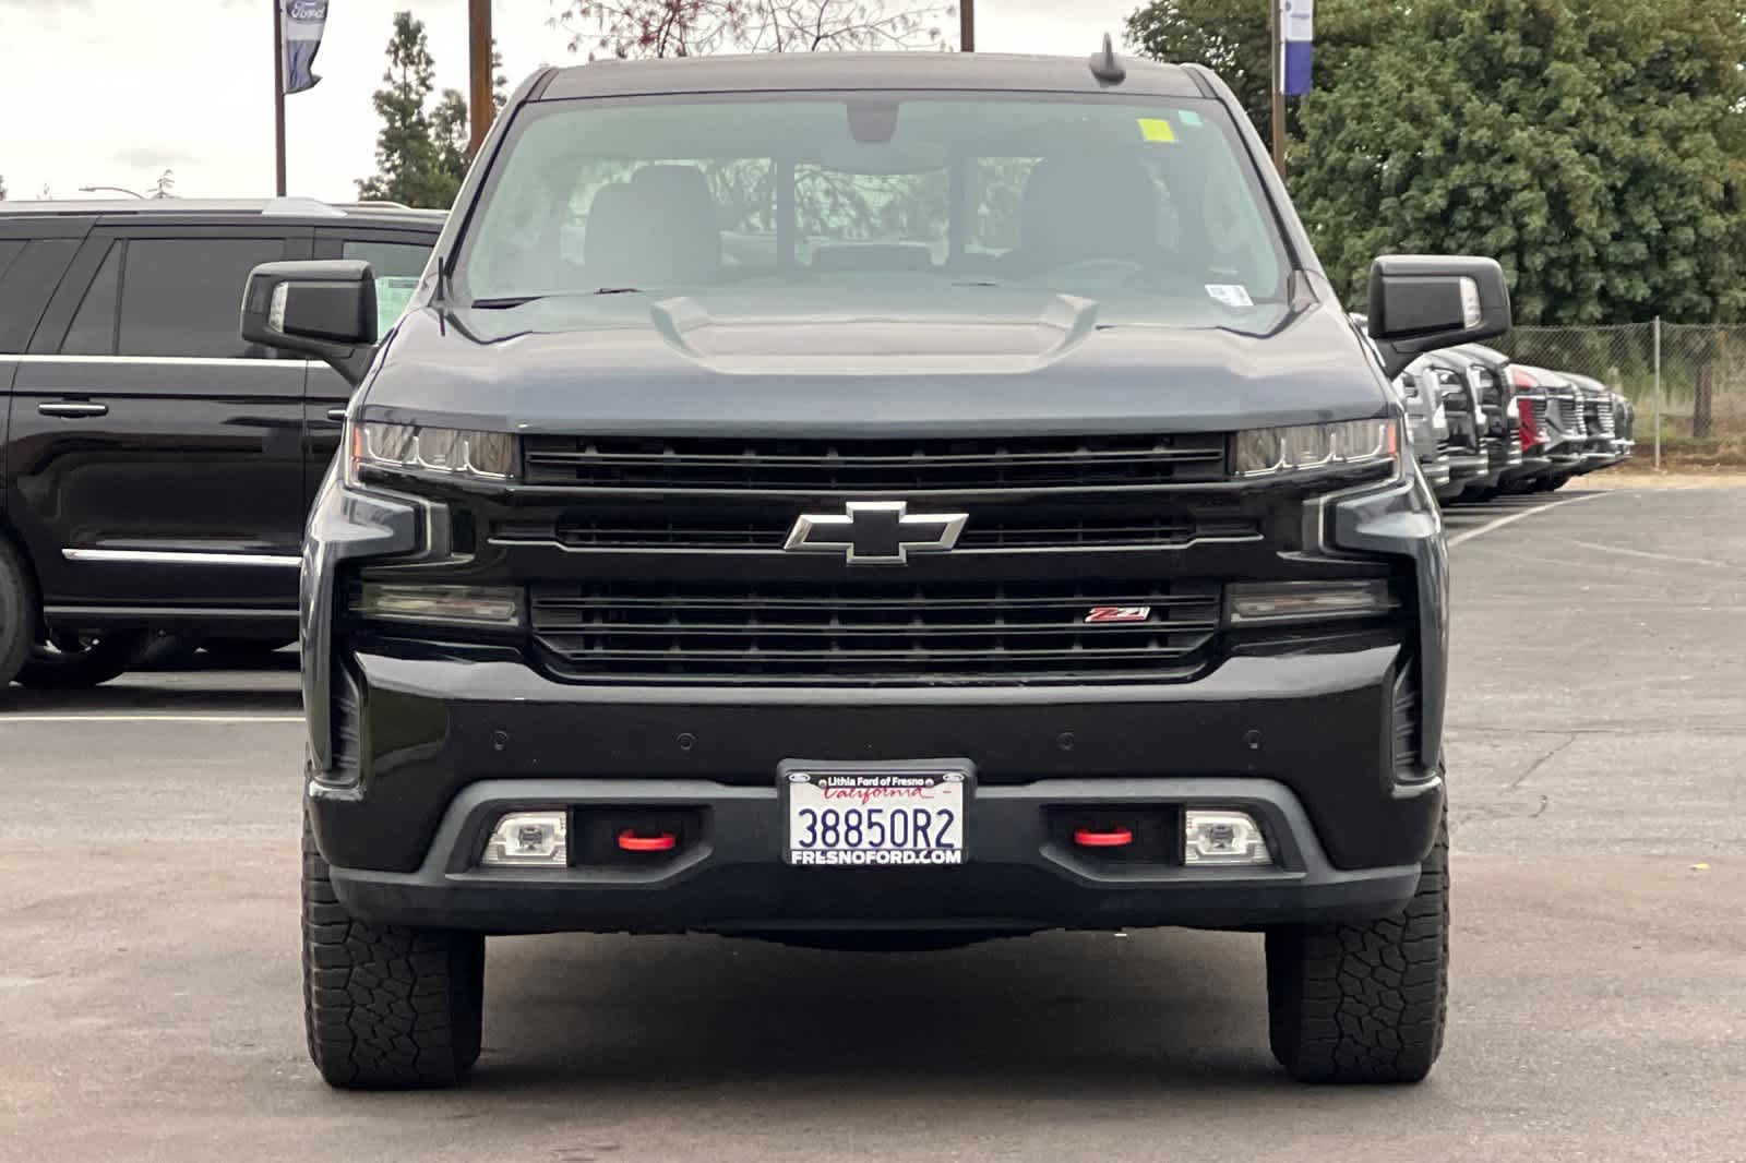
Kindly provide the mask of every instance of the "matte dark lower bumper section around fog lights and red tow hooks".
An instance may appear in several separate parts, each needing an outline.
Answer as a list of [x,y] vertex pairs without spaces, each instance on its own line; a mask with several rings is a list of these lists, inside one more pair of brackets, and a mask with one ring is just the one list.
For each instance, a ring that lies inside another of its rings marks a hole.
[[[1421,789],[1440,805],[1440,781]],[[510,810],[608,805],[683,809],[700,826],[646,864],[557,870],[478,868],[485,836]],[[1063,843],[1051,812],[1121,805],[1247,810],[1268,833],[1273,866],[1128,864]],[[381,924],[489,932],[826,932],[1250,927],[1369,919],[1418,887],[1416,863],[1334,868],[1303,805],[1254,779],[1041,781],[980,788],[966,828],[971,859],[950,868],[805,868],[780,861],[775,786],[700,781],[487,781],[471,784],[407,873],[333,868],[349,912]]]

